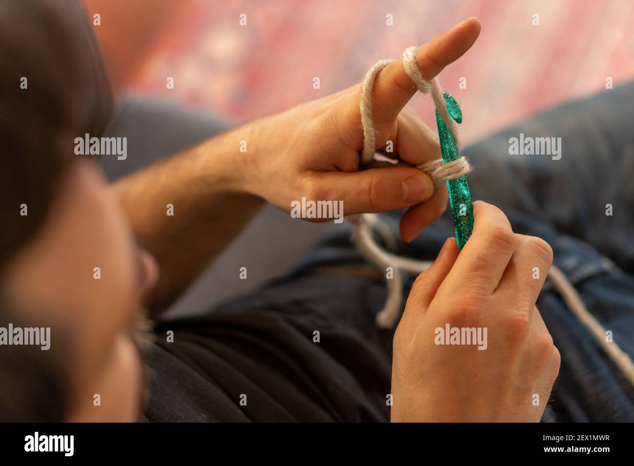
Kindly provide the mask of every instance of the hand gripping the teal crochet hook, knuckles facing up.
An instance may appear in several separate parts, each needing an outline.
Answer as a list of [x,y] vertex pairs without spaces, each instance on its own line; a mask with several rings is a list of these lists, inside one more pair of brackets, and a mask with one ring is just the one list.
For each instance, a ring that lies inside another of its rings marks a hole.
[[[450,238],[411,289],[394,335],[392,422],[539,421],[560,365],[535,307],[551,264],[548,243],[475,202],[460,255]],[[446,324],[486,327],[486,349],[436,344]]]

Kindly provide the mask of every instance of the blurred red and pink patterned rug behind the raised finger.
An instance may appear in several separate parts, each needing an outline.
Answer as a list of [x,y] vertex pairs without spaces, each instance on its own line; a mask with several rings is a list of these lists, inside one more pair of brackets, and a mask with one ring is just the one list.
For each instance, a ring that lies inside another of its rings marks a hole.
[[[634,77],[628,0],[197,0],[181,10],[131,87],[237,120],[359,82],[379,58],[398,56],[469,16],[480,19],[480,38],[439,75],[463,108],[467,141],[604,91],[607,78],[618,86]],[[166,89],[168,76],[174,89]],[[313,89],[314,77],[320,89]],[[460,77],[466,89],[458,87]],[[429,99],[417,96],[411,105],[433,124]]]

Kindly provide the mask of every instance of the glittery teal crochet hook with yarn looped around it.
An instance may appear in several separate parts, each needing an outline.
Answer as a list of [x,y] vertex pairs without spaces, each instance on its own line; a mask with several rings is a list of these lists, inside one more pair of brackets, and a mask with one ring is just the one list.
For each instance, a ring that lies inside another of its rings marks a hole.
[[[458,102],[446,92],[443,92],[443,96],[450,118],[456,123],[462,123],[462,110],[460,110]],[[440,140],[443,164],[459,159],[458,145],[456,145],[453,134],[447,128],[438,110],[436,110],[436,126],[438,127],[438,139]],[[474,206],[471,201],[467,175],[448,180],[447,189],[449,190],[449,204],[451,205],[451,214],[456,231],[456,242],[458,243],[458,249],[462,250],[474,228]]]

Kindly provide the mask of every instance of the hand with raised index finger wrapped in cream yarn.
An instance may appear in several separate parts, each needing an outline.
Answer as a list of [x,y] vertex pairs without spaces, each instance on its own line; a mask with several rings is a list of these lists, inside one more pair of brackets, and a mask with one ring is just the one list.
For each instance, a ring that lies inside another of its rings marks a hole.
[[[416,55],[425,79],[462,56],[479,32],[480,23],[470,18],[420,46]],[[403,109],[415,92],[399,59],[378,74],[372,96],[377,150],[392,141],[394,153],[388,155],[410,165],[440,157],[437,135]],[[360,93],[357,84],[243,126],[236,133],[247,141],[247,153],[236,157],[238,183],[287,212],[302,197],[342,200],[346,215],[409,207],[401,219],[401,236],[411,241],[446,209],[446,187],[434,190],[429,176],[411,167],[357,171],[363,148]]]

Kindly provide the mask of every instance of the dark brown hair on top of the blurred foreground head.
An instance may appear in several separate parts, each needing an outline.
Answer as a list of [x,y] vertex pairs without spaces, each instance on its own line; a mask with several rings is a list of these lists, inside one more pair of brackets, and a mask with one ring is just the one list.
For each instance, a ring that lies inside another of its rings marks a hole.
[[0,0],[0,268],[46,219],[74,138],[107,122],[90,27],[74,2]]

